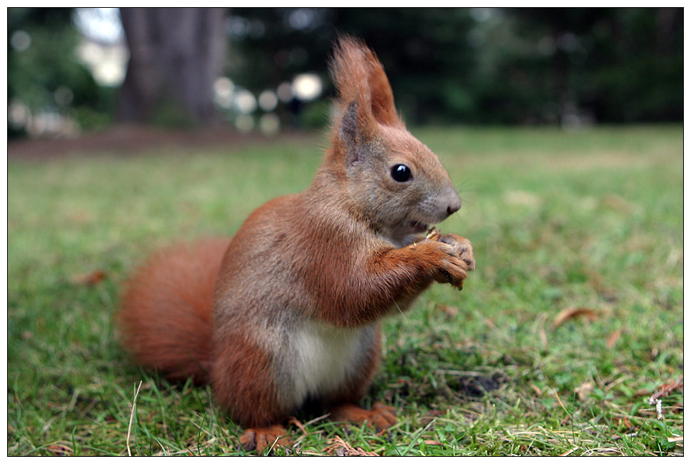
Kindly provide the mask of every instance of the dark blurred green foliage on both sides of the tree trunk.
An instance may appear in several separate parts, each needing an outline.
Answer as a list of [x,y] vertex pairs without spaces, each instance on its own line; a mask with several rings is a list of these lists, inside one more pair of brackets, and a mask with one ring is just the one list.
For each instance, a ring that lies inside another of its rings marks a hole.
[[[73,13],[8,9],[9,103],[99,128],[113,121],[117,89],[96,84],[77,59]],[[11,46],[20,30],[31,37],[23,51]],[[284,123],[305,127],[328,120],[333,87],[326,61],[338,33],[361,37],[377,52],[398,109],[413,124],[683,118],[678,8],[235,8],[226,31],[224,74],[255,96],[296,74],[321,76],[322,100],[276,109]],[[69,103],[56,98],[61,88],[71,91]],[[156,122],[186,121],[168,113]]]

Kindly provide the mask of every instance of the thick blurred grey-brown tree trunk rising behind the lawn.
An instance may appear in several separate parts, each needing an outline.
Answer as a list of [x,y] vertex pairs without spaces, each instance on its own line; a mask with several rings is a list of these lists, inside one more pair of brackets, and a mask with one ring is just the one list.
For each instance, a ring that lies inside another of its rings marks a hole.
[[120,14],[130,59],[118,121],[215,121],[213,81],[226,56],[226,9],[123,8]]

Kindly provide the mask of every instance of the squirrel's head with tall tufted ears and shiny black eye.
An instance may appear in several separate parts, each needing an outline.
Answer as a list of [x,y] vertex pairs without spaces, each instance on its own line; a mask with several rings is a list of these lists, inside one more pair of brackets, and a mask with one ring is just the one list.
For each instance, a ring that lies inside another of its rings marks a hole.
[[375,54],[341,37],[331,76],[338,99],[324,168],[338,171],[349,207],[395,243],[458,211],[460,198],[445,168],[398,117]]

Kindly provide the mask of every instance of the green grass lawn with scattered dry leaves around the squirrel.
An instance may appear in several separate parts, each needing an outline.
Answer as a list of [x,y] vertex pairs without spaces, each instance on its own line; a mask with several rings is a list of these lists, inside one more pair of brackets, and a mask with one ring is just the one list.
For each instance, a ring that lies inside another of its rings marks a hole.
[[[276,454],[323,454],[338,435],[380,455],[680,455],[681,390],[663,420],[647,398],[682,375],[682,128],[413,133],[458,184],[464,206],[440,228],[470,238],[478,268],[463,292],[433,286],[386,319],[364,404],[394,405],[398,425],[301,416],[307,435],[291,428]],[[324,143],[11,159],[8,454],[126,454],[143,380],[131,453],[242,455],[210,388],[128,360],[118,292],[157,246],[229,236],[301,191]],[[555,326],[566,308],[597,318]]]

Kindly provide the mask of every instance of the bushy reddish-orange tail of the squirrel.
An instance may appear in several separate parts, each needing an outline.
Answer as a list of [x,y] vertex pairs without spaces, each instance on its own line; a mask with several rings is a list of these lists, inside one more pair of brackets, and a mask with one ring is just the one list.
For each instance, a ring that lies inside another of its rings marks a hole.
[[123,346],[171,380],[208,383],[213,289],[229,238],[178,244],[154,254],[126,284],[117,322]]

